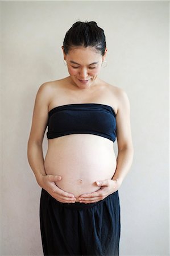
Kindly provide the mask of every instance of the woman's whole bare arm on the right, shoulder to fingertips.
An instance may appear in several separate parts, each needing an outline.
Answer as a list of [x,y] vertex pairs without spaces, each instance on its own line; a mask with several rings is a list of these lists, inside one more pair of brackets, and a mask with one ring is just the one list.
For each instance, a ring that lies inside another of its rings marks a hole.
[[116,115],[118,156],[115,173],[110,180],[96,181],[101,188],[96,192],[81,195],[81,202],[94,203],[117,191],[130,170],[134,155],[130,126],[130,103],[127,94],[122,89],[119,89],[118,92],[118,102]]

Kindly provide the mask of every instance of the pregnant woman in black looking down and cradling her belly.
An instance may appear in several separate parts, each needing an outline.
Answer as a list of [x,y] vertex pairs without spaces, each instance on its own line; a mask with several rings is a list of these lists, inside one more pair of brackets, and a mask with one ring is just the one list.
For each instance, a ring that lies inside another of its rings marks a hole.
[[133,158],[130,104],[123,89],[98,77],[107,48],[96,22],[74,23],[62,49],[69,76],[40,86],[28,140],[42,188],[43,253],[119,255],[118,189]]

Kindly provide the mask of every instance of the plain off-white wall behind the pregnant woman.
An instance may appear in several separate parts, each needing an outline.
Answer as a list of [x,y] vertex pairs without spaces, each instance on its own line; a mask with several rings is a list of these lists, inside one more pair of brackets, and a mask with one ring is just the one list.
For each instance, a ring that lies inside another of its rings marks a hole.
[[5,1],[1,16],[1,255],[43,255],[41,189],[27,140],[39,86],[68,76],[61,46],[77,20],[105,31],[100,77],[125,89],[131,103],[135,155],[119,189],[120,253],[169,255],[169,2]]

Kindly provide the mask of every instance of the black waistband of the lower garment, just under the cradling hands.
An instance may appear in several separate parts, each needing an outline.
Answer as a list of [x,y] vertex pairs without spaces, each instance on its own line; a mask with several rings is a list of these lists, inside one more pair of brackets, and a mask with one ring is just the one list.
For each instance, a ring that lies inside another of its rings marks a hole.
[[47,191],[45,191],[45,189],[42,188],[42,193],[46,193],[47,196],[49,198],[51,198],[53,200],[53,202],[58,205],[59,207],[65,207],[68,209],[74,209],[74,210],[81,210],[81,209],[89,209],[92,207],[95,207],[96,205],[102,204],[103,202],[105,202],[106,200],[109,199],[114,199],[115,197],[118,196],[118,190],[111,193],[109,196],[105,197],[102,200],[99,200],[97,203],[80,203],[80,202],[75,202],[75,203],[61,203],[60,201],[57,201],[54,197],[52,197],[51,195],[49,195],[49,193]]

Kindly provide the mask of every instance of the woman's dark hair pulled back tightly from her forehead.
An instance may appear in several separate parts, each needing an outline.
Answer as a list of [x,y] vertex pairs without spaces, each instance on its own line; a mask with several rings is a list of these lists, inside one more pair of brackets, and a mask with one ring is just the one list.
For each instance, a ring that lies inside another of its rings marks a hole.
[[72,47],[94,47],[104,55],[106,49],[105,34],[102,28],[94,21],[76,22],[65,34],[64,52],[68,54]]

